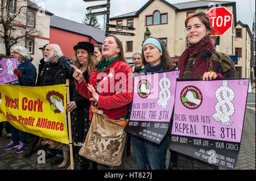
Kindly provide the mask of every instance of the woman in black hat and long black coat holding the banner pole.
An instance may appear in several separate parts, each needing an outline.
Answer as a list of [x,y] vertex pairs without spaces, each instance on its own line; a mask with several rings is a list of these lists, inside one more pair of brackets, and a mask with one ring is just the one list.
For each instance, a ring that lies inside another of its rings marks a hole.
[[[82,71],[82,75],[88,82],[90,72],[97,66],[97,60],[93,54],[94,46],[89,42],[81,41],[73,49],[75,50],[76,58],[72,63]],[[90,101],[76,91],[75,79],[72,78],[70,83],[70,102],[67,103],[67,111],[71,112],[73,157],[75,162],[81,164],[81,169],[85,170],[89,169],[90,161],[81,157],[79,150],[84,144],[90,127],[89,106]]]

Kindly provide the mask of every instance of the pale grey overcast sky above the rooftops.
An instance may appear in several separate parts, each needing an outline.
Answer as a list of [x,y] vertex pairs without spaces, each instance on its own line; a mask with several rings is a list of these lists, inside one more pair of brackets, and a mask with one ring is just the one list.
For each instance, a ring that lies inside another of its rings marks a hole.
[[[128,12],[138,11],[149,0],[111,0],[110,1],[110,18]],[[188,2],[188,0],[166,0],[171,4]],[[191,0],[194,1],[194,0]],[[35,0],[39,6],[52,12],[56,16],[73,20],[81,23],[84,18],[86,7],[93,5],[105,4],[106,1],[84,2],[82,0]],[[237,8],[237,21],[248,24],[250,29],[253,24],[253,15],[255,13],[255,0],[234,0]],[[102,11],[104,9],[93,10]],[[98,21],[103,26],[103,15],[97,16]]]

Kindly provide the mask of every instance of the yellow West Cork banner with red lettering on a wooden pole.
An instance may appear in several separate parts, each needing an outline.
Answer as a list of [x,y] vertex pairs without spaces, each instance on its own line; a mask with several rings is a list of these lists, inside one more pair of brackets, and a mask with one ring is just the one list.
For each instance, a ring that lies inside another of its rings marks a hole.
[[68,144],[65,85],[24,87],[0,85],[0,122]]

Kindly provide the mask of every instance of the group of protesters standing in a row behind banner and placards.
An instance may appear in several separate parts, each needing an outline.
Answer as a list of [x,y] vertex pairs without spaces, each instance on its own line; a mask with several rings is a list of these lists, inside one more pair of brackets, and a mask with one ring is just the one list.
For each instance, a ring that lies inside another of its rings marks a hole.
[[[67,103],[66,111],[71,112],[73,155],[75,161],[81,164],[81,169],[125,169],[126,156],[130,154],[132,145],[139,169],[166,170],[171,128],[159,145],[123,131],[129,120],[129,104],[133,100],[133,77],[129,74],[179,70],[180,78],[203,78],[203,81],[235,77],[234,64],[229,56],[216,52],[214,48],[210,37],[210,32],[214,31],[204,12],[189,15],[185,19],[185,28],[189,44],[181,54],[177,67],[172,64],[163,42],[155,37],[148,37],[143,41],[142,50],[133,53],[134,67],[131,68],[124,57],[122,42],[117,37],[108,35],[102,45],[85,41],[77,43],[73,47],[75,58],[72,60],[63,56],[59,45],[44,45],[40,48],[43,58],[40,60],[37,80],[36,68],[30,61],[27,49],[15,46],[11,55],[18,60],[19,65],[14,74],[18,76],[21,86],[51,86],[65,84],[65,79],[70,80],[71,100]],[[110,81],[112,70],[114,74],[123,73],[126,79],[115,78]],[[108,85],[109,90],[114,87],[114,91],[103,90],[104,83]],[[123,84],[126,86],[122,86]],[[24,151],[24,155],[30,156],[39,137],[34,136],[27,146],[28,133],[19,131],[12,125],[10,127],[11,141],[3,150],[16,148],[15,153]],[[88,146],[93,135],[101,136],[102,149],[106,148],[110,155],[117,153],[115,157],[118,158],[95,156],[94,152],[97,150]],[[107,140],[112,136],[117,141],[112,140],[109,144]],[[169,151],[171,154],[168,169],[219,168],[199,159]],[[47,149],[46,158],[55,156],[51,163],[60,163],[63,160],[61,152],[59,149]]]

